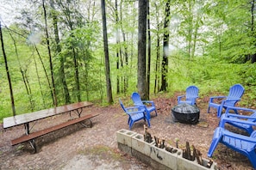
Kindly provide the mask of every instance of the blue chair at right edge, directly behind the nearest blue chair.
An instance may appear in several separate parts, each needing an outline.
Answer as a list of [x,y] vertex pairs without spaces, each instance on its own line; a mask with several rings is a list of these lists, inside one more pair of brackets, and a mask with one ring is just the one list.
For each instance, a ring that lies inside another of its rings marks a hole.
[[[229,110],[253,113],[247,116],[230,113]],[[225,124],[231,124],[234,127],[237,127],[243,131],[247,131],[247,133],[250,135],[254,131],[253,127],[256,126],[256,110],[243,107],[228,106],[225,114],[222,114],[222,117],[219,122],[219,127],[224,128]]]

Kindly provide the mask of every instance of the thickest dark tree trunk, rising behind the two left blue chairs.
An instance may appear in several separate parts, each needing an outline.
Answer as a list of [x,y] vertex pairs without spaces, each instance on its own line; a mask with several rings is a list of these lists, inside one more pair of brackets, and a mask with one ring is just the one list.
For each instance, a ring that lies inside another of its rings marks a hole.
[[146,39],[147,39],[147,0],[139,0],[138,28],[138,92],[142,100],[147,100]]

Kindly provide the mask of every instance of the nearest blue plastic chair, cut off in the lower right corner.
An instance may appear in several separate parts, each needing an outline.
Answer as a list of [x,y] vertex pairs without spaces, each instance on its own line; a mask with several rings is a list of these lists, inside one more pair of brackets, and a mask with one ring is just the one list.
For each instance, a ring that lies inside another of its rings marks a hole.
[[247,156],[253,168],[256,169],[256,131],[250,137],[233,133],[222,127],[217,127],[209,147],[208,156],[211,157],[218,143],[226,145],[228,148]]

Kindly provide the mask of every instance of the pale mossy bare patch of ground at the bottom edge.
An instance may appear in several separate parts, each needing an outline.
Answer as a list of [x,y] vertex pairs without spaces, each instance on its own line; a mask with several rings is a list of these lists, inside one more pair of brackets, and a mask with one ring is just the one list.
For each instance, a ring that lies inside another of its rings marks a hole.
[[122,154],[117,149],[106,146],[97,146],[85,149],[79,155],[75,155],[62,170],[122,170],[122,169],[151,169],[147,165]]

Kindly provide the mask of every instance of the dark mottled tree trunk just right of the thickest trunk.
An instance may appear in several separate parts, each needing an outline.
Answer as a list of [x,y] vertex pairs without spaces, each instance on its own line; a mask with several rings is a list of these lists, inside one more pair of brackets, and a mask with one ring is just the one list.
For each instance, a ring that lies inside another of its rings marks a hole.
[[169,24],[170,24],[170,1],[165,5],[165,23],[164,23],[164,46],[163,46],[163,60],[162,60],[162,85],[160,91],[166,91],[167,73],[168,73],[168,51],[169,51]]

